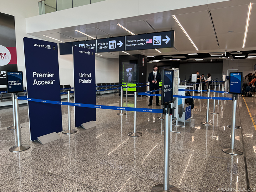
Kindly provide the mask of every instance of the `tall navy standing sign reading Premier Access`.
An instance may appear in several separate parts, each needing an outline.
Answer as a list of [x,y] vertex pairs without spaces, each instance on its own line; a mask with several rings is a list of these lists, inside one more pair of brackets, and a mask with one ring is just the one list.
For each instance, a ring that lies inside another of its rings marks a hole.
[[[57,43],[24,37],[27,96],[60,102]],[[62,131],[61,105],[28,101],[31,141]]]

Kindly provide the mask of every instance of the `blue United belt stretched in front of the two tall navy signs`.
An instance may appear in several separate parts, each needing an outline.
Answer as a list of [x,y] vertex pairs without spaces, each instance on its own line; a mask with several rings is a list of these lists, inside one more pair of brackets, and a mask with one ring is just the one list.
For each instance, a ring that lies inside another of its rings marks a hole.
[[50,104],[59,104],[59,105],[70,105],[78,107],[88,107],[88,108],[100,108],[100,109],[112,109],[112,110],[126,110],[126,111],[137,111],[137,112],[148,112],[148,113],[162,113],[162,109],[148,109],[148,108],[133,108],[133,107],[115,107],[108,105],[92,105],[92,104],[83,104],[83,103],[68,103],[61,101],[49,101],[49,100],[40,100],[33,98],[23,98],[17,97],[19,100],[34,101],[39,103],[50,103]]

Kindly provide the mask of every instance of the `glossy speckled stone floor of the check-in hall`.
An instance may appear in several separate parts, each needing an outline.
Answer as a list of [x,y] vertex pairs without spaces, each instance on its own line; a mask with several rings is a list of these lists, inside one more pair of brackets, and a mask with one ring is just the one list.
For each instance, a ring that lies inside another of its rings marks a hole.
[[[245,156],[249,184],[256,191],[255,129],[248,113],[249,109],[256,120],[256,98],[244,99],[238,99],[236,124],[242,125],[242,129],[236,129],[235,134],[235,147],[244,150],[244,155],[221,151],[230,146],[231,129],[226,126],[231,124],[232,101],[219,101],[222,107],[215,107],[219,114],[209,115],[213,126],[204,126],[200,122],[206,120],[206,100],[197,99],[191,121],[185,127],[172,127],[180,134],[170,133],[169,184],[182,192],[245,189],[248,187]],[[128,106],[132,106],[133,97],[128,100]],[[97,96],[96,104],[121,106],[121,100],[117,94],[109,94]],[[137,98],[139,108],[161,108],[147,104],[147,97]],[[30,141],[27,106],[19,110],[22,144],[30,145],[30,149],[9,152],[16,145],[15,131],[7,130],[13,123],[12,109],[0,109],[0,191],[146,192],[163,182],[164,132],[161,130],[165,123],[157,119],[161,114],[137,112],[136,129],[142,136],[129,137],[127,134],[133,132],[134,125],[132,111],[123,111],[126,115],[121,116],[117,115],[120,111],[96,109],[96,127],[75,128],[77,133],[72,135],[58,133],[59,140],[41,145]],[[63,130],[68,129],[67,106],[62,106],[62,117]],[[73,107],[71,126],[73,129]]]

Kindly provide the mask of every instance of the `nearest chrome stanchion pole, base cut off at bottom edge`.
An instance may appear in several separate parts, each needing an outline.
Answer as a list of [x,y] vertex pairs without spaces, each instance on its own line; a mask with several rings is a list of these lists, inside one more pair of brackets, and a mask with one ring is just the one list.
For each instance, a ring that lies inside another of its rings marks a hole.
[[[169,156],[170,156],[170,105],[165,105],[165,146],[164,146],[164,183],[152,187],[152,192],[180,192],[180,190],[169,185]],[[171,120],[172,121],[172,120]]]

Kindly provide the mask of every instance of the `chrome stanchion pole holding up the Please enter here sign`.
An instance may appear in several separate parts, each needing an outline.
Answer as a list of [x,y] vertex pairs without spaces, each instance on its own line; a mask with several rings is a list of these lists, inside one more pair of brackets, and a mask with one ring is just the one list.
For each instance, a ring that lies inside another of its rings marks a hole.
[[230,148],[224,147],[222,148],[222,151],[231,155],[242,155],[243,152],[241,150],[235,149],[236,103],[237,103],[237,95],[233,94],[232,129],[231,129]]

